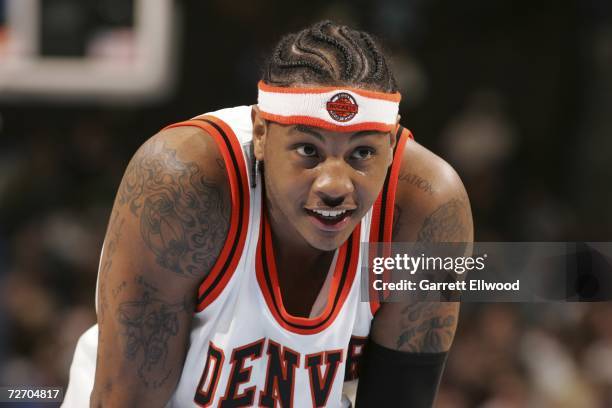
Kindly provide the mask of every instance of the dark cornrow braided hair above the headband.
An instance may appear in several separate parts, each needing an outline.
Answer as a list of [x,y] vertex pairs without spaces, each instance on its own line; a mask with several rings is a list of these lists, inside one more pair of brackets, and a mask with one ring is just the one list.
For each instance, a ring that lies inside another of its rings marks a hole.
[[276,86],[302,83],[397,91],[387,59],[372,36],[331,21],[284,36],[266,63],[263,80]]

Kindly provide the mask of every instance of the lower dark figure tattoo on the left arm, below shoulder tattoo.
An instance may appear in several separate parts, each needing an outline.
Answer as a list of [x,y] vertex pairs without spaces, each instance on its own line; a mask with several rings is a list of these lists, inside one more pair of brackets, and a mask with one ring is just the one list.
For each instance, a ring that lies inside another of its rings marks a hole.
[[[179,366],[167,363],[170,345],[179,334],[180,315],[192,310],[188,302],[170,303],[159,297],[158,289],[136,278],[141,295],[119,304],[116,318],[125,342],[124,356],[138,366],[138,377],[147,388],[164,385]],[[172,345],[176,347],[176,345]]]

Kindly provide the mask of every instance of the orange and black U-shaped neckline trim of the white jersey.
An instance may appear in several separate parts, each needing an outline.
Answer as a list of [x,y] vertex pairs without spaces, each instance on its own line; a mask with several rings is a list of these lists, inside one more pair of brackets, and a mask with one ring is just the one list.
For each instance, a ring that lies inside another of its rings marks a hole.
[[359,239],[361,223],[357,224],[349,239],[338,249],[336,266],[323,312],[316,317],[297,317],[289,314],[283,305],[270,224],[262,205],[259,240],[257,242],[257,282],[268,309],[283,328],[298,334],[315,334],[333,323],[353,286],[359,260]]

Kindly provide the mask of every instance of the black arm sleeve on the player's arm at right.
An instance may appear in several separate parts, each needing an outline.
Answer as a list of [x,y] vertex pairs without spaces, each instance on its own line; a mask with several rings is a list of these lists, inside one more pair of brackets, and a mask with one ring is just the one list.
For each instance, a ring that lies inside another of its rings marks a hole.
[[447,354],[396,351],[370,340],[359,370],[356,407],[433,406]]

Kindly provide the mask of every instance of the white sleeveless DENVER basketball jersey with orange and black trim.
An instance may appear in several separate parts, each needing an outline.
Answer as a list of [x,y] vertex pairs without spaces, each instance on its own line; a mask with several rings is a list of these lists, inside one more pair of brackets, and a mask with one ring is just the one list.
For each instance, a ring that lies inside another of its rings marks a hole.
[[[289,314],[281,298],[262,181],[250,155],[251,107],[223,109],[176,126],[198,126],[217,142],[230,179],[228,239],[199,289],[189,349],[169,407],[341,407],[345,380],[358,376],[378,304],[362,301],[360,243],[390,241],[401,152],[376,204],[336,250],[310,317]],[[251,183],[256,181],[256,183]],[[252,186],[251,184],[255,184]],[[97,326],[79,340],[64,406],[88,406]]]

